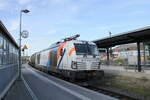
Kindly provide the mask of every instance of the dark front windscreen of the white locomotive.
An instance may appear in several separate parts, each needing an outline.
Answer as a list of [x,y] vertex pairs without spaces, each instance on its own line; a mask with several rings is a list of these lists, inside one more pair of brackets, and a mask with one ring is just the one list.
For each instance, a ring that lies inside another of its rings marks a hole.
[[98,50],[96,45],[91,45],[88,43],[75,43],[75,49],[77,55],[98,55]]

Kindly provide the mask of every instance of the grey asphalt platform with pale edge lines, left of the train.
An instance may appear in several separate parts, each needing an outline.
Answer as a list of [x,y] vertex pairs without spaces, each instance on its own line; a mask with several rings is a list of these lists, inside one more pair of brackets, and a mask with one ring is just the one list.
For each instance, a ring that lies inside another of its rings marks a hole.
[[47,75],[29,65],[22,68],[22,81],[16,81],[4,100],[117,100]]

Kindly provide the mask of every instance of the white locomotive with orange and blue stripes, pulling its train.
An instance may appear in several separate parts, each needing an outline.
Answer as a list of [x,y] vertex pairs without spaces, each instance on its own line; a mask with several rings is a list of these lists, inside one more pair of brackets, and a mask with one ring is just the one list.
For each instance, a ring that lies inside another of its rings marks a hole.
[[75,35],[33,54],[30,64],[38,69],[71,79],[101,77],[100,56],[93,42],[81,41]]

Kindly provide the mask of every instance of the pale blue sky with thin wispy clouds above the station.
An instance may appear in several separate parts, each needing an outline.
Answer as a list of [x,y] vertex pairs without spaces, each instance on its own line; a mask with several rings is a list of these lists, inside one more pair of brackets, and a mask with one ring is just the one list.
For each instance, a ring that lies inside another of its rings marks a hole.
[[0,0],[0,20],[17,42],[21,9],[30,10],[22,18],[28,55],[75,34],[92,41],[150,26],[150,0]]

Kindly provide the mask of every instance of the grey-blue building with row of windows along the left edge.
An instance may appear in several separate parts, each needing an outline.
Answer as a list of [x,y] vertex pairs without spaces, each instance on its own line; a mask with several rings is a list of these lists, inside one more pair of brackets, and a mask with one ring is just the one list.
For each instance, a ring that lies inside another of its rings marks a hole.
[[0,100],[18,77],[19,47],[0,21]]

